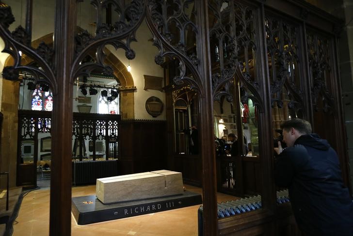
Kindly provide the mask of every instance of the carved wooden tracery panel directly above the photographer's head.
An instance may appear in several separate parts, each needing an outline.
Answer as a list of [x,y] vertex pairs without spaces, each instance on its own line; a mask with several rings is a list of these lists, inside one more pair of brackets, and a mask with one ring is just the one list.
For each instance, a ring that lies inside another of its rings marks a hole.
[[273,137],[277,138],[283,121],[304,116],[303,28],[295,21],[268,12],[265,13],[265,27],[273,107]]

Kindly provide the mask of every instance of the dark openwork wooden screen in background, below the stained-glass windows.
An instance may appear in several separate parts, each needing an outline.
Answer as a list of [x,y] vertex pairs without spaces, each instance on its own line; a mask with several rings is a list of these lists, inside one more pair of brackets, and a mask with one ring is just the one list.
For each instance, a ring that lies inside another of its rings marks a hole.
[[[46,158],[49,163],[51,159],[51,112],[48,111],[18,111],[18,138],[17,138],[17,186],[32,188],[36,186],[37,165],[40,157]],[[38,135],[39,134],[39,135]],[[43,138],[40,138],[43,136]],[[91,113],[73,113],[72,140],[75,149],[73,161],[82,161],[90,158],[93,161],[99,158],[96,153],[96,140],[101,140],[104,147],[98,153],[100,160],[116,159],[119,156],[119,149],[110,153],[109,145],[113,142],[115,147],[120,148],[120,115],[103,115]],[[89,140],[87,155],[83,144]],[[23,147],[21,147],[23,146]],[[24,153],[25,146],[27,153]],[[88,150],[91,152],[88,153]],[[73,150],[73,149],[71,149]],[[45,154],[42,154],[45,152]],[[26,154],[28,156],[21,156]],[[73,152],[74,153],[74,152]],[[40,155],[42,154],[42,155]]]

